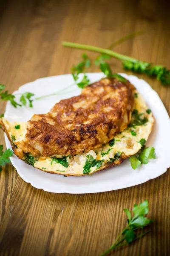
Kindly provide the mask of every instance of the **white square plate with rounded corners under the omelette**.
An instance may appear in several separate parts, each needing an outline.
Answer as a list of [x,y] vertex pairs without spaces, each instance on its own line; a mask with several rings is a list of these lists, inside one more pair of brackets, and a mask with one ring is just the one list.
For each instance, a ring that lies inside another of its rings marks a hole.
[[[156,159],[150,160],[147,165],[141,165],[138,169],[133,170],[129,160],[125,160],[120,166],[113,167],[102,172],[94,173],[92,177],[64,177],[61,175],[50,174],[35,169],[19,160],[15,155],[11,157],[11,163],[17,169],[20,177],[32,186],[38,189],[44,189],[48,192],[55,193],[94,193],[105,192],[116,189],[144,183],[147,180],[156,178],[166,172],[170,166],[170,118],[164,108],[158,94],[144,80],[136,76],[127,76],[122,74],[137,90],[143,95],[148,107],[152,110],[155,117],[153,131],[147,140],[147,145],[152,145],[156,150]],[[91,82],[102,78],[102,73],[88,73]],[[34,82],[24,84],[14,94],[23,92],[32,92],[36,96],[54,93],[73,83],[71,75],[52,76],[37,79]],[[60,99],[66,99],[71,96],[77,96],[80,89],[77,86],[72,87],[74,90],[70,93],[59,94],[43,100],[37,100],[34,108],[22,107],[14,108],[9,102],[6,106],[5,117],[8,121],[27,121],[36,113],[46,113]],[[19,97],[19,96],[16,96]],[[6,139],[6,146],[11,145]]]

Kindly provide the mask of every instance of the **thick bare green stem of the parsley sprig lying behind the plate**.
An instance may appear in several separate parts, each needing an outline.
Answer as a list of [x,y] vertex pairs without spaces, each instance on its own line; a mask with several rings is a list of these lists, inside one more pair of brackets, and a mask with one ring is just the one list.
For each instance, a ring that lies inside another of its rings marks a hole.
[[65,41],[62,42],[62,45],[65,46],[65,47],[72,47],[72,48],[90,50],[90,51],[93,51],[93,52],[104,53],[104,54],[110,55],[110,56],[112,56],[114,58],[118,58],[118,59],[120,59],[122,61],[131,61],[133,63],[138,61],[135,58],[128,57],[128,56],[120,54],[118,52],[113,52],[110,49],[104,49],[104,48],[95,47],[95,46],[91,46],[91,45],[77,44],[77,43],[65,42]]

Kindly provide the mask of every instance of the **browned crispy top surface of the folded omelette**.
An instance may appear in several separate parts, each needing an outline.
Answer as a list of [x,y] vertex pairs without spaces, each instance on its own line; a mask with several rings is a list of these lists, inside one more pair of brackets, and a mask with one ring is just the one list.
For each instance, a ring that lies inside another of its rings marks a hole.
[[108,143],[130,122],[134,87],[117,79],[102,79],[79,96],[61,100],[50,112],[27,123],[25,142],[16,142],[35,157],[75,155]]

